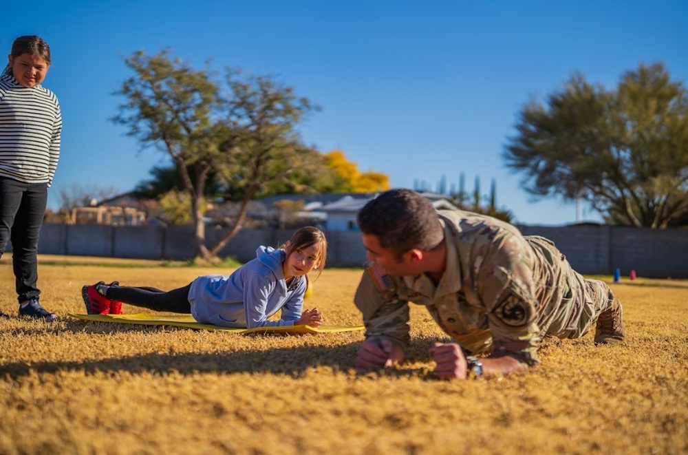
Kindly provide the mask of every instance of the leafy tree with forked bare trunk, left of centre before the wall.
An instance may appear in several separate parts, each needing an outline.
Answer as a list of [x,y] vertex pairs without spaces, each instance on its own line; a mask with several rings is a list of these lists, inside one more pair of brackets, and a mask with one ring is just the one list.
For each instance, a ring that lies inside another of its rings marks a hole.
[[[317,108],[291,87],[233,69],[218,82],[209,63],[195,70],[166,50],[135,52],[125,64],[134,74],[116,92],[125,102],[113,120],[128,127],[142,149],[169,154],[189,195],[198,257],[210,260],[224,248],[241,229],[248,202],[270,182],[288,182],[297,169],[319,164],[296,131]],[[203,213],[211,175],[240,202],[228,233],[208,247]]]

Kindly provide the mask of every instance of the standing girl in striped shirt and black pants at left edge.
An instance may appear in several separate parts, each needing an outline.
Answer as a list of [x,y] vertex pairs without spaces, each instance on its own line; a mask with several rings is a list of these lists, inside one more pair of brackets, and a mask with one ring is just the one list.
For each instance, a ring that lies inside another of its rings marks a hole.
[[[39,304],[37,260],[47,189],[60,155],[62,115],[56,96],[41,83],[50,47],[39,36],[12,43],[0,76],[0,257],[12,241],[19,316],[52,321]],[[8,317],[0,310],[0,317]]]

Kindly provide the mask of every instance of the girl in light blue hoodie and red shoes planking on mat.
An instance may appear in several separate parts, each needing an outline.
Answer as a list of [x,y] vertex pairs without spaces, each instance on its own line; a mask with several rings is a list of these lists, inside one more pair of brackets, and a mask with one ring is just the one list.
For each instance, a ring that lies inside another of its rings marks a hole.
[[[260,246],[257,257],[231,275],[203,275],[183,288],[164,291],[151,287],[98,282],[83,286],[81,295],[89,315],[121,313],[122,302],[171,313],[191,313],[202,324],[235,328],[319,327],[323,313],[303,310],[306,274],[325,266],[327,240],[314,227],[303,227],[280,248]],[[279,321],[268,317],[281,310]]]

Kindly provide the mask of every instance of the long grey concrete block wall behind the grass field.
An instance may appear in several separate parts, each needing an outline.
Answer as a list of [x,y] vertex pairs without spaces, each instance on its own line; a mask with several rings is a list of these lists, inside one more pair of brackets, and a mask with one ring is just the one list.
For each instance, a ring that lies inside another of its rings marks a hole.
[[[584,275],[622,275],[688,278],[688,229],[643,229],[623,226],[518,226],[524,235],[541,235],[555,242],[574,269]],[[213,245],[225,229],[208,229],[206,244]],[[242,229],[220,252],[241,262],[255,257],[259,245],[279,246],[294,230]],[[361,235],[327,231],[327,264],[358,267],[365,262]],[[11,249],[8,248],[8,250]],[[57,255],[131,257],[187,260],[195,255],[193,228],[172,226],[97,226],[44,224],[39,252]]]

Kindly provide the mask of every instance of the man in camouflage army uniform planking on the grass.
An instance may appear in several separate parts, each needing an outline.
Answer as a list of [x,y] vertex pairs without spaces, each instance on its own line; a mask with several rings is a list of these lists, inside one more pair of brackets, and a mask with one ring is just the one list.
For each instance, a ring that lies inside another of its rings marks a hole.
[[[585,279],[544,237],[466,211],[438,213],[414,191],[387,191],[358,214],[366,273],[354,301],[366,327],[356,367],[403,359],[409,302],[424,305],[455,343],[436,343],[436,374],[524,372],[545,336],[625,339],[621,302],[604,282]],[[487,356],[478,359],[475,356]]]

